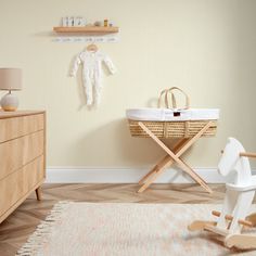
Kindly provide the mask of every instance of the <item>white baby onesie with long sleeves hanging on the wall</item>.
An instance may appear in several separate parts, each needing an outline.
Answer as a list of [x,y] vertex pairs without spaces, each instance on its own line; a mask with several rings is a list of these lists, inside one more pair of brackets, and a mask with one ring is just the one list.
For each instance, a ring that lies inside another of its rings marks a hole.
[[92,105],[92,87],[94,87],[94,101],[98,105],[101,101],[102,89],[102,63],[106,65],[111,74],[116,73],[112,60],[99,50],[95,52],[84,51],[79,53],[74,62],[71,75],[76,76],[77,69],[82,64],[82,84],[86,90],[87,105]]

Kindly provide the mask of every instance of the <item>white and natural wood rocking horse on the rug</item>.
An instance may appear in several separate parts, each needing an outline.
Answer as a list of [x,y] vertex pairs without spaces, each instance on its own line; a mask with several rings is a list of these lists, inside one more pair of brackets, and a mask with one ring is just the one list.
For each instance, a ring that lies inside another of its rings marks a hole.
[[256,157],[256,153],[246,153],[238,140],[228,139],[218,171],[234,180],[226,184],[222,210],[212,212],[218,217],[217,221],[196,220],[188,227],[190,231],[212,232],[229,248],[256,248],[256,234],[243,233],[245,228],[256,227],[256,213],[247,216],[256,190],[256,176],[252,175],[248,157]]

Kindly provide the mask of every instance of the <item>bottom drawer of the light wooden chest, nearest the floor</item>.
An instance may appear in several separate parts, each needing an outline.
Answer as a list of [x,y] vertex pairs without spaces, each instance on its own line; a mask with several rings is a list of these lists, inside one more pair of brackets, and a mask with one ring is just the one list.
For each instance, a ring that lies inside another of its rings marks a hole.
[[0,181],[0,216],[25,196],[44,178],[43,157],[39,156],[28,165]]

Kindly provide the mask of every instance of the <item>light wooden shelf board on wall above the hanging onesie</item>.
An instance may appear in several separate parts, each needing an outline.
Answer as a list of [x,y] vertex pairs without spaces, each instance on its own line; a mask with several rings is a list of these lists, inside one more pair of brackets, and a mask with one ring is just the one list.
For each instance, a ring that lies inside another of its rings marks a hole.
[[86,26],[86,27],[53,27],[55,33],[82,33],[82,34],[112,34],[118,33],[118,27],[99,27],[99,26]]

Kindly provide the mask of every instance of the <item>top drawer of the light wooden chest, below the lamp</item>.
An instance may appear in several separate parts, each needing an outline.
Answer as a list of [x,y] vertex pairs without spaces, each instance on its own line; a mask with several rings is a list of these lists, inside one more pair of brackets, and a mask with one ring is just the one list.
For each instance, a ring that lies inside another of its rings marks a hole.
[[42,130],[43,127],[43,114],[0,119],[0,143],[38,130]]

